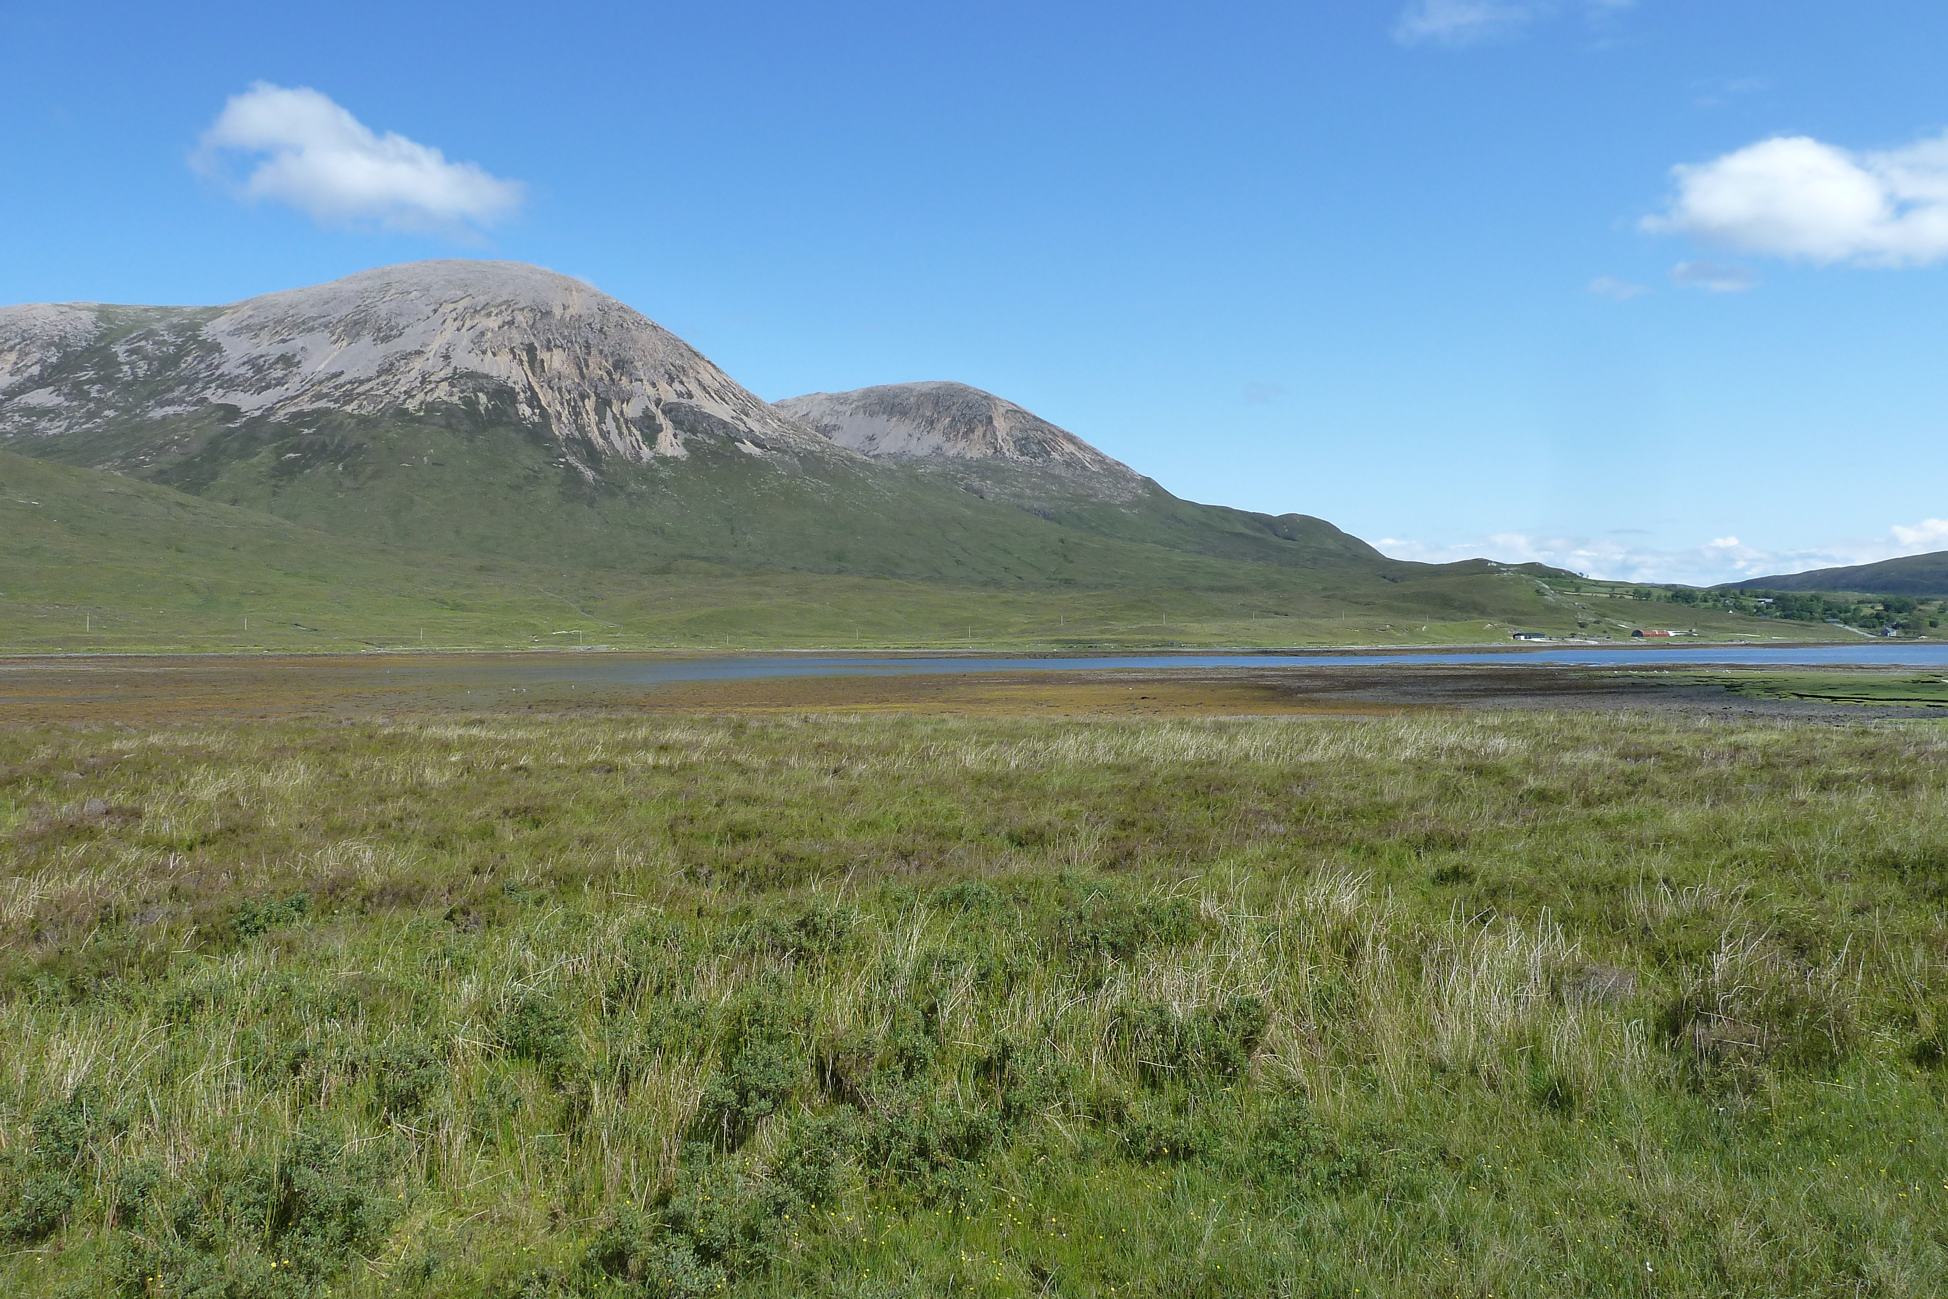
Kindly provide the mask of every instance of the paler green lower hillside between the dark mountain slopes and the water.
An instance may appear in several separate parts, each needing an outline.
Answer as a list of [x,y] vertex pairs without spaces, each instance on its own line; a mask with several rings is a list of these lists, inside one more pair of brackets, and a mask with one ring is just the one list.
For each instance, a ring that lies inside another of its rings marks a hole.
[[1484,563],[1397,565],[1399,580],[1387,580],[1356,565],[1225,565],[1136,545],[1122,553],[1151,569],[1101,586],[701,561],[577,569],[409,551],[0,452],[0,650],[12,652],[1274,647],[1576,627],[1572,598],[1545,596],[1539,578]]

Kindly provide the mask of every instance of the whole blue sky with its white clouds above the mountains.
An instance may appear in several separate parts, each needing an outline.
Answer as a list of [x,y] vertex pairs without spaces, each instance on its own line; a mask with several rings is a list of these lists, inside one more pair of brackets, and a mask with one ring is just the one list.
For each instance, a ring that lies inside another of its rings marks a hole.
[[962,380],[1397,555],[1724,580],[1948,547],[1944,53],[1938,0],[0,0],[0,302],[534,261],[764,397]]

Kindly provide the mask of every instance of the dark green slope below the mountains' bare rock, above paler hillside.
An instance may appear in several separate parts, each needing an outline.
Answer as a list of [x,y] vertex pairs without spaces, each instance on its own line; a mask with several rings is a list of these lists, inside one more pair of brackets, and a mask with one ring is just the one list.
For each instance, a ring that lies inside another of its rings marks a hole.
[[[142,434],[150,448],[129,454]],[[113,465],[210,501],[415,551],[503,555],[575,569],[674,563],[875,575],[995,586],[1253,588],[1239,565],[1426,575],[1325,520],[1179,501],[990,501],[925,465],[801,465],[695,442],[684,460],[584,475],[549,436],[446,407],[386,417],[236,419],[201,411],[158,434],[115,427],[16,442]],[[1356,582],[1358,584],[1358,582]]]

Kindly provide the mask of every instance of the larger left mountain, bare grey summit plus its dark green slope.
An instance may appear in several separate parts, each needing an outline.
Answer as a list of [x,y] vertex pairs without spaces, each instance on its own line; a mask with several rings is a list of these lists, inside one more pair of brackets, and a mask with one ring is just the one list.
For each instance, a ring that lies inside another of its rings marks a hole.
[[997,526],[518,263],[386,267],[228,308],[10,308],[0,448],[444,553],[953,580],[1130,567]]

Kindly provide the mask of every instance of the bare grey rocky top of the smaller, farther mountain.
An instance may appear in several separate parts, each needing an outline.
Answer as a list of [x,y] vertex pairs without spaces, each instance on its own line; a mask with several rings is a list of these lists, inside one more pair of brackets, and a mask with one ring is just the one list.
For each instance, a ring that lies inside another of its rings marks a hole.
[[1091,495],[1130,499],[1145,481],[1068,428],[966,384],[884,384],[808,393],[777,409],[875,460],[960,462],[966,469],[1056,475]]

